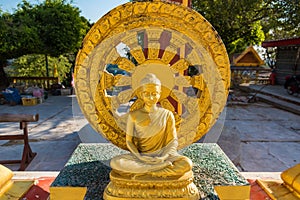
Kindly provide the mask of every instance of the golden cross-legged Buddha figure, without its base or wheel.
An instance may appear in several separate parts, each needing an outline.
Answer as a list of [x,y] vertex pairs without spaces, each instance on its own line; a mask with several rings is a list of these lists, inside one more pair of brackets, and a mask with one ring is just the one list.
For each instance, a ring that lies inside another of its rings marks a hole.
[[177,153],[177,134],[173,113],[158,107],[161,83],[154,74],[141,80],[144,106],[129,113],[126,145],[130,154],[111,160],[112,169],[132,178],[180,177],[191,171],[192,161]]

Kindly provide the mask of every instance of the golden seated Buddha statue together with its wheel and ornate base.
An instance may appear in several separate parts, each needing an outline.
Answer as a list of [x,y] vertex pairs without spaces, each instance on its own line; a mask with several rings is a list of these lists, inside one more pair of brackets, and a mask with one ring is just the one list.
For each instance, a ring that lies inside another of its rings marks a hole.
[[[124,45],[132,57],[119,52]],[[211,24],[179,4],[130,2],[95,23],[76,59],[78,103],[97,132],[129,150],[111,160],[105,200],[199,199],[192,163],[177,148],[198,141],[217,120],[229,92],[229,63]],[[109,73],[110,64],[126,74]],[[199,74],[189,75],[192,67]],[[185,94],[191,87],[197,95]],[[140,88],[134,111],[120,114]]]

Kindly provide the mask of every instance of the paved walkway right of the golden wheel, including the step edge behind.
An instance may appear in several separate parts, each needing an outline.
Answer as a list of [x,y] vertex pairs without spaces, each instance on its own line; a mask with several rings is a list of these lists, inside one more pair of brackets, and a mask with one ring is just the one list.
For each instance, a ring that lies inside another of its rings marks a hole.
[[218,140],[228,157],[245,172],[280,172],[300,163],[300,96],[279,85],[239,89],[248,93],[237,98],[242,103],[228,101]]

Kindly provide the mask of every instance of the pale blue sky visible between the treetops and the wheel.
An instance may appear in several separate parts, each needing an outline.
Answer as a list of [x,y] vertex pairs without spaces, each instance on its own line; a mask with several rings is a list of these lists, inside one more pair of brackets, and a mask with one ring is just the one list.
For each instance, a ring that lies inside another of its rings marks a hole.
[[[27,0],[32,4],[38,4],[43,0]],[[0,8],[3,11],[13,12],[18,3],[22,0],[0,0]],[[89,19],[90,22],[96,22],[112,8],[129,2],[129,0],[73,0],[73,5],[81,10],[81,15]]]

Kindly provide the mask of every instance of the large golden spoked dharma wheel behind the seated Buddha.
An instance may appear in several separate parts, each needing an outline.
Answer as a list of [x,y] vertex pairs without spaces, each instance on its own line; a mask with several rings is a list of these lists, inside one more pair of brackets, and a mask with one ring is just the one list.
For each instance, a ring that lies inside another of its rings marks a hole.
[[161,80],[159,104],[175,116],[179,148],[204,136],[230,85],[227,52],[212,25],[186,6],[153,1],[118,6],[91,28],[76,59],[78,102],[92,127],[122,149],[147,73]]

